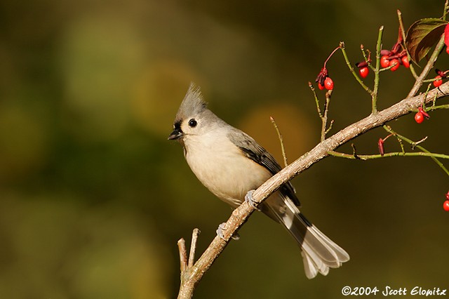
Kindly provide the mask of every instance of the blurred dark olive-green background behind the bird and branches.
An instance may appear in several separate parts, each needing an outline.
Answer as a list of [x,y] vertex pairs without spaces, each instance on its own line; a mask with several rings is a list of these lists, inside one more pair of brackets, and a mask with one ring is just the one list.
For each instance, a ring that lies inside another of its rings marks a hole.
[[[222,119],[281,161],[276,119],[293,161],[319,142],[307,86],[344,41],[396,41],[439,17],[443,1],[1,1],[0,298],[174,298],[176,242],[199,227],[199,251],[231,209],[168,142],[190,81]],[[448,69],[443,53],[437,66]],[[341,53],[333,132],[365,117],[370,98]],[[372,86],[373,74],[365,80]],[[404,98],[413,77],[385,72],[380,108]],[[323,92],[319,92],[323,98]],[[445,100],[442,100],[445,101]],[[391,125],[448,153],[448,112]],[[377,129],[355,141],[376,153]],[[399,150],[390,138],[386,150]],[[346,145],[341,150],[351,151]],[[328,158],[293,180],[302,211],[351,255],[307,280],[299,248],[255,213],[195,292],[196,298],[339,298],[343,286],[448,287],[448,177],[430,159]]]

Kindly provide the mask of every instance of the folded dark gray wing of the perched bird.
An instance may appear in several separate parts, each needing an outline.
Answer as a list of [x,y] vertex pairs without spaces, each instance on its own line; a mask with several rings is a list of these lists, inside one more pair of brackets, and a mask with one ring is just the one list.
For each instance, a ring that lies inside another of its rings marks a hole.
[[[275,175],[281,171],[281,166],[274,159],[272,154],[257,144],[250,135],[243,133],[239,129],[232,128],[232,132],[228,134],[229,140],[234,143],[249,159],[255,161],[257,164],[264,166],[267,170]],[[296,206],[300,206],[300,200],[297,199],[295,188],[290,182],[286,182],[280,189],[281,194],[290,198]]]

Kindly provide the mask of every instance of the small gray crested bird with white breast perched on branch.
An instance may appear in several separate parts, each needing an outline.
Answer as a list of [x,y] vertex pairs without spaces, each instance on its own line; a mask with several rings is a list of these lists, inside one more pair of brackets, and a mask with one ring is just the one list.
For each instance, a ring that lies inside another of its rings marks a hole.
[[[168,139],[182,144],[185,159],[196,177],[234,208],[250,190],[281,171],[274,157],[253,138],[213,114],[194,84],[182,100],[173,127]],[[286,227],[301,246],[307,278],[318,273],[326,275],[329,268],[340,267],[349,260],[349,255],[311,224],[298,206],[300,201],[288,182],[259,208]]]

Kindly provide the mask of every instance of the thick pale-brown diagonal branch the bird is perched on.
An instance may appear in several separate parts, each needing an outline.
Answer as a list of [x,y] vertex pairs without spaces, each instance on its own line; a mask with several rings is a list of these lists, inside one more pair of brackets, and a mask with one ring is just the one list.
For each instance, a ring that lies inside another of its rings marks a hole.
[[[410,94],[416,92],[417,90],[410,92]],[[312,150],[302,155],[302,157],[296,161],[293,161],[293,163],[286,168],[283,168],[282,171],[276,173],[276,175],[267,180],[267,182],[264,182],[264,184],[257,188],[253,193],[255,203],[260,204],[264,199],[267,199],[273,192],[278,190],[281,185],[302,173],[321,159],[328,157],[329,152],[336,150],[337,147],[340,147],[340,145],[343,145],[345,142],[348,142],[373,128],[382,126],[391,120],[408,114],[414,109],[417,109],[417,107],[420,107],[423,103],[424,105],[430,104],[436,98],[442,98],[448,94],[449,82],[446,82],[439,88],[429,91],[429,93],[401,100],[401,102],[398,102],[387,109],[375,114],[370,114],[368,117],[347,126],[330,138],[320,142]],[[199,260],[182,274],[182,283],[178,298],[192,298],[194,287],[199,283],[203,274],[209,269],[227,244],[229,244],[232,235],[239,230],[241,225],[245,223],[246,219],[254,210],[255,208],[253,206],[250,206],[250,204],[244,201],[241,206],[232,212],[231,217],[225,224],[225,230],[223,230],[224,239],[221,239],[218,236],[215,237]]]

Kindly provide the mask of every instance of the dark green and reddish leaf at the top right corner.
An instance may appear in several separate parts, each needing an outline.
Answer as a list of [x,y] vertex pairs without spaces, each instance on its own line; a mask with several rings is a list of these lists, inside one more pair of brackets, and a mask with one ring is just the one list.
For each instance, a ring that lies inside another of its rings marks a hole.
[[444,32],[447,21],[436,18],[417,20],[410,26],[406,37],[406,47],[411,58],[420,62]]

